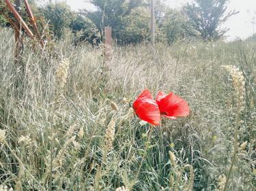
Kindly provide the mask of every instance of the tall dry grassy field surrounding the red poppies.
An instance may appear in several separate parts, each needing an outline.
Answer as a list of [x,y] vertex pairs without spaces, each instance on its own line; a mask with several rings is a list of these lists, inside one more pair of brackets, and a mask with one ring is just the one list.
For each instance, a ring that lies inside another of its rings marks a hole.
[[[256,41],[116,46],[103,65],[68,35],[15,63],[13,39],[0,29],[0,190],[256,190]],[[190,115],[148,135],[145,88]]]

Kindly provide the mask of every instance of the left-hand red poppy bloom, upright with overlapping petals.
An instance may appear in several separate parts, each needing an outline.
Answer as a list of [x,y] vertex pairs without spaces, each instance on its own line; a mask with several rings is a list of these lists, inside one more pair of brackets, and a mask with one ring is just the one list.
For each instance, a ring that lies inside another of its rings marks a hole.
[[144,90],[132,105],[135,114],[146,122],[153,125],[160,124],[160,111],[158,104],[153,99],[150,90]]

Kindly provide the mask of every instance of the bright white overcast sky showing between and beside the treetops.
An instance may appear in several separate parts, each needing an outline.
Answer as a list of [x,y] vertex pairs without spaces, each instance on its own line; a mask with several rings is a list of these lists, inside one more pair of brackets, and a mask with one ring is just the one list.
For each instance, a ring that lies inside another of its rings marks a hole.
[[[156,0],[157,1],[157,0]],[[170,7],[180,7],[182,4],[191,0],[166,0]],[[93,6],[85,3],[85,0],[66,0],[72,10],[92,9]],[[253,16],[256,17],[256,0],[230,0],[229,10],[239,11],[239,14],[232,16],[223,27],[228,27],[227,39],[232,40],[236,37],[246,38],[253,34]],[[255,20],[256,22],[256,20]],[[255,24],[256,33],[256,24]]]

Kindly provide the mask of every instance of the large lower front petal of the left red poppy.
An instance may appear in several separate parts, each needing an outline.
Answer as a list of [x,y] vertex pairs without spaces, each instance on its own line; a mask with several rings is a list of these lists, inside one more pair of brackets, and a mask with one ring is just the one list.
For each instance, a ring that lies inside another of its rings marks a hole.
[[143,103],[135,109],[135,114],[146,122],[149,122],[153,125],[160,124],[160,111],[156,101],[152,99],[144,99]]

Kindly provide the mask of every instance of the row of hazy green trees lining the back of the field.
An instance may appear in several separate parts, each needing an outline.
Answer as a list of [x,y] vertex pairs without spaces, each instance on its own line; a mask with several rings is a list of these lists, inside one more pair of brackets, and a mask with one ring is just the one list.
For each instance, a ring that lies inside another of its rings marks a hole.
[[[0,12],[4,7],[0,1]],[[44,17],[56,38],[70,30],[79,41],[100,39],[103,27],[112,27],[118,44],[137,44],[150,39],[150,5],[145,0],[90,0],[96,10],[74,12],[66,3],[38,5],[33,10]],[[165,0],[156,1],[156,41],[169,44],[179,39],[201,37],[204,41],[222,39],[228,29],[221,25],[235,11],[227,12],[228,0],[195,0],[182,10],[171,10]],[[0,22],[8,23],[2,16]],[[91,39],[93,37],[93,39]]]

